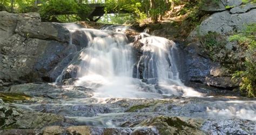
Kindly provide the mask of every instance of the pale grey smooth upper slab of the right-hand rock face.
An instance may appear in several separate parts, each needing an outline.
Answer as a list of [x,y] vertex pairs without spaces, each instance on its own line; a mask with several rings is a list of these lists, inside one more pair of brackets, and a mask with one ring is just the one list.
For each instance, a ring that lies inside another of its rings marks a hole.
[[244,25],[251,23],[256,23],[256,9],[244,14],[230,14],[229,11],[217,12],[207,17],[198,28],[194,29],[187,41],[192,41],[198,36],[204,36],[209,31],[227,35],[234,31],[240,31]]

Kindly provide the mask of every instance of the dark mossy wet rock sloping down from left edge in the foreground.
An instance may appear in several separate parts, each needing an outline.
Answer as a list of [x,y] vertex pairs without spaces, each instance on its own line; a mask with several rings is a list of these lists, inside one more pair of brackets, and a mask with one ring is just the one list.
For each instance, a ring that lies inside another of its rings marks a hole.
[[65,118],[0,104],[0,129],[42,129],[50,125],[68,125]]

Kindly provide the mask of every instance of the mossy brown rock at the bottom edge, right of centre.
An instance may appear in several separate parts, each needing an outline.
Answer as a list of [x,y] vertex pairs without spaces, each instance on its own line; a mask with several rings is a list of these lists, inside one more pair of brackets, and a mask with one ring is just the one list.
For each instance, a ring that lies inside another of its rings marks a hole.
[[201,119],[157,116],[143,120],[137,126],[155,126],[160,134],[204,134],[200,130],[203,123]]

